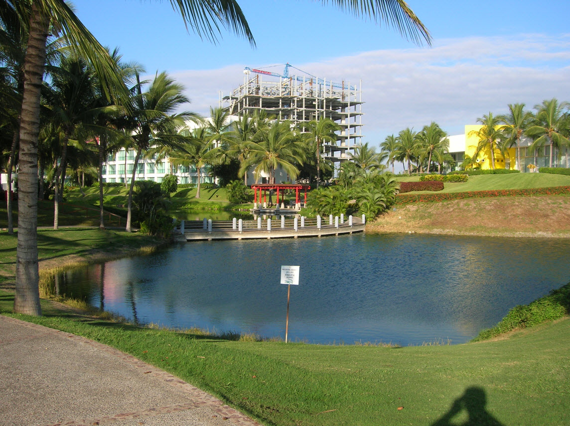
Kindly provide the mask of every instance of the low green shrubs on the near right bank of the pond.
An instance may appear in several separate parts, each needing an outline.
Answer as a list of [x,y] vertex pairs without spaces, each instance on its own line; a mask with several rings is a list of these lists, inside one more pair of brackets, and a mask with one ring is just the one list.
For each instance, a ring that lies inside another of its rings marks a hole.
[[540,297],[528,305],[512,308],[506,317],[491,329],[483,330],[474,342],[487,340],[515,329],[534,327],[544,321],[553,321],[570,313],[570,282],[552,290],[548,296]]

